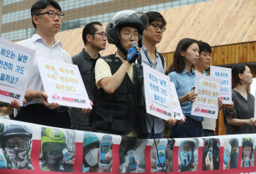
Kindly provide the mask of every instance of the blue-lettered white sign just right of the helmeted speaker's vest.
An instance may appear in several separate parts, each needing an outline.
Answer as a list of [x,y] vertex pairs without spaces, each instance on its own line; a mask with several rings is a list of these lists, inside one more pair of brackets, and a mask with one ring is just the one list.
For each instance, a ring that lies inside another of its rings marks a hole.
[[146,112],[162,119],[174,118],[169,77],[143,64]]

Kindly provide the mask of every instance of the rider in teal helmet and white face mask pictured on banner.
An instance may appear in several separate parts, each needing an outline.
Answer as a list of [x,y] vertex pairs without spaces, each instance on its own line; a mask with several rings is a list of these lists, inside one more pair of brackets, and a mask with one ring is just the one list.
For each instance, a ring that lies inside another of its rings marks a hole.
[[[97,135],[91,132],[84,132],[83,136],[83,166],[82,173],[110,173],[113,165],[112,151],[108,151],[105,154],[105,158],[110,161],[110,167],[108,169],[102,169],[99,167],[99,138]],[[113,143],[110,145],[112,149]]]

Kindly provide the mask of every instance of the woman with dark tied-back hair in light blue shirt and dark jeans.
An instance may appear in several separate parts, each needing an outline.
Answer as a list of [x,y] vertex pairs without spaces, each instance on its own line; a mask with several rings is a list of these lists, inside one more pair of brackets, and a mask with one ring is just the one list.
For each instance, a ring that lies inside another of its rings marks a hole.
[[195,102],[197,93],[192,91],[197,75],[192,69],[199,58],[199,47],[195,39],[181,39],[174,53],[173,64],[169,67],[170,81],[174,83],[181,103],[182,113],[186,116],[184,124],[176,124],[170,129],[170,137],[202,137],[203,117],[191,115],[191,102]]

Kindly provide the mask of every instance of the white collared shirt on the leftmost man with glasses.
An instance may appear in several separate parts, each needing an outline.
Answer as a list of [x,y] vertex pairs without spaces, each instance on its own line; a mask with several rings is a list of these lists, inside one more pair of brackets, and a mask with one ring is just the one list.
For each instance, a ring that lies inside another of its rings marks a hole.
[[[45,91],[44,87],[42,86],[41,76],[37,67],[37,56],[72,64],[71,56],[69,53],[67,53],[67,51],[63,50],[61,42],[59,42],[57,39],[55,39],[55,42],[51,48],[46,44],[45,39],[42,39],[39,34],[34,34],[33,37],[17,42],[17,44],[37,51],[32,64],[31,73],[29,75],[29,83],[27,86],[29,89]],[[42,104],[42,101],[41,99],[27,99],[26,104],[23,104],[23,106],[26,107],[27,105],[34,103]]]

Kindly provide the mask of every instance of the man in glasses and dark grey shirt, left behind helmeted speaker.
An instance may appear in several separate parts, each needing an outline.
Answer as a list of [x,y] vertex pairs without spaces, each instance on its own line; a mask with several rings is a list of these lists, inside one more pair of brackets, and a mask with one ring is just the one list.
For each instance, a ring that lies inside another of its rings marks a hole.
[[[73,64],[78,65],[78,69],[83,79],[83,84],[86,87],[89,99],[94,97],[91,92],[91,65],[94,59],[100,57],[99,51],[105,50],[107,34],[99,22],[91,22],[83,28],[83,43],[85,48],[72,57]],[[89,119],[89,113],[86,116],[79,113],[76,108],[69,110],[71,128],[83,131],[94,132]]]

